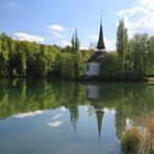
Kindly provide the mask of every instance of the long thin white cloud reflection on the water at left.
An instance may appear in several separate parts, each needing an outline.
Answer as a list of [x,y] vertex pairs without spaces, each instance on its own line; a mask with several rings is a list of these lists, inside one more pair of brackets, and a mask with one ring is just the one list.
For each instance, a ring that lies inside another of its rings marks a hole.
[[37,114],[42,114],[43,111],[42,110],[36,110],[33,112],[28,112],[28,113],[18,113],[15,116],[13,116],[14,118],[25,118],[25,117],[33,117],[33,116],[37,116]]

